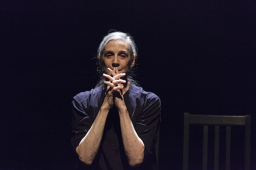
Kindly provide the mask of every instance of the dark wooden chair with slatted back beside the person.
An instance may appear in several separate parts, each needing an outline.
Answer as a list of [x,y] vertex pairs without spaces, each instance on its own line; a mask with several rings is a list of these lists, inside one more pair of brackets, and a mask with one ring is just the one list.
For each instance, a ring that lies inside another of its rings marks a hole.
[[230,169],[231,126],[245,126],[245,170],[250,169],[250,128],[251,115],[199,115],[184,113],[183,170],[188,169],[189,125],[203,126],[203,170],[207,169],[208,126],[215,126],[214,169],[219,169],[220,126],[226,126],[226,170]]

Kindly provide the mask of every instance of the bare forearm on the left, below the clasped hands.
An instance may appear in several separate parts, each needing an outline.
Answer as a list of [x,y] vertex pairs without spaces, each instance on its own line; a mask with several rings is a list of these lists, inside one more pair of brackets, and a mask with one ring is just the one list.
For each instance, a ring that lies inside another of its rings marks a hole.
[[92,164],[102,139],[106,117],[108,117],[109,109],[101,107],[90,130],[82,138],[76,153],[79,156],[79,160],[85,164]]

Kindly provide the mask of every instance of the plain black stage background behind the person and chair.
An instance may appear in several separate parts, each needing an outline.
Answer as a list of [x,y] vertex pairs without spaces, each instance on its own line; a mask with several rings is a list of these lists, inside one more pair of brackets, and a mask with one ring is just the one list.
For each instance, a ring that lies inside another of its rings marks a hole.
[[[95,86],[92,58],[111,29],[135,37],[136,79],[162,100],[160,169],[182,169],[183,112],[251,114],[255,169],[255,1],[0,5],[1,169],[74,168],[72,97]],[[240,132],[232,131],[240,143],[233,149],[232,169],[242,166],[237,163],[243,155]],[[193,136],[200,138],[201,133]],[[201,168],[199,161],[194,164]]]

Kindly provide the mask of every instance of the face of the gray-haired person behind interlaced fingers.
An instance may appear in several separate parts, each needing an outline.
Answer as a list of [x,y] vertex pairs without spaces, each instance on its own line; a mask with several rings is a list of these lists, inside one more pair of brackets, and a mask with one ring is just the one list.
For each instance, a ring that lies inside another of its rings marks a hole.
[[104,48],[101,63],[106,74],[111,75],[108,67],[112,70],[117,69],[120,74],[127,72],[129,67],[133,67],[135,59],[131,57],[130,47],[125,41],[111,40]]

